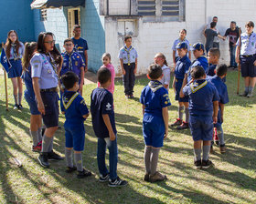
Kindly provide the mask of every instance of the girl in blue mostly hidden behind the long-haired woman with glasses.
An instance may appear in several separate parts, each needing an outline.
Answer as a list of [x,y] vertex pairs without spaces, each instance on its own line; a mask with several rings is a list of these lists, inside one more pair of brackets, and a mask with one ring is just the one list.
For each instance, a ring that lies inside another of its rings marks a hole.
[[33,89],[30,59],[37,50],[37,43],[31,42],[25,44],[25,51],[23,56],[23,74],[26,90],[24,91],[24,97],[27,100],[27,104],[30,109],[30,135],[33,140],[32,151],[40,152],[42,149],[42,117],[37,109],[36,96]]

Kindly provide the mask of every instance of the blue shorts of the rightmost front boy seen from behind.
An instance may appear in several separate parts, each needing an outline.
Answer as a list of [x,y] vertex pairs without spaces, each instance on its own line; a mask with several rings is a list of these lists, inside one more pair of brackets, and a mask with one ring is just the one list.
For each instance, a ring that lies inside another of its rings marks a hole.
[[194,141],[211,141],[213,134],[212,116],[189,115],[189,128]]

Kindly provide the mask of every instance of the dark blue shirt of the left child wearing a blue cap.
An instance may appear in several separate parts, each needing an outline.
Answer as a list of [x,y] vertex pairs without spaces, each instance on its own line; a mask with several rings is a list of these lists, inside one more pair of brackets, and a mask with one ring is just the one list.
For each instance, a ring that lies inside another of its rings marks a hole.
[[191,61],[187,56],[183,56],[182,58],[178,57],[175,69],[176,79],[184,79],[184,76],[187,73],[189,66],[191,66]]

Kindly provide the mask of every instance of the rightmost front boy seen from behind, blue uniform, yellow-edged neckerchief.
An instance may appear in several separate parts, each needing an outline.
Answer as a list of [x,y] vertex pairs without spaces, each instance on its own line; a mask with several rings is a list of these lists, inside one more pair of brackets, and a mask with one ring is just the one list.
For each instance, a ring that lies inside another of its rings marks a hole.
[[[219,94],[213,84],[206,80],[202,66],[194,66],[191,71],[193,81],[183,88],[182,95],[189,97],[189,127],[194,140],[194,164],[196,168],[209,168],[208,159],[213,134],[213,123],[217,122]],[[201,146],[203,144],[203,157]]]

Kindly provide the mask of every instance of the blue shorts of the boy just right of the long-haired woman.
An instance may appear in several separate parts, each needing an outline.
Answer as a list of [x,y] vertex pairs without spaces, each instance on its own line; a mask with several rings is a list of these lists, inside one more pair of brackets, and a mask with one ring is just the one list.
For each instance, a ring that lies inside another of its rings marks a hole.
[[64,125],[66,148],[73,148],[75,151],[82,151],[84,149],[85,129],[84,125],[70,126]]

